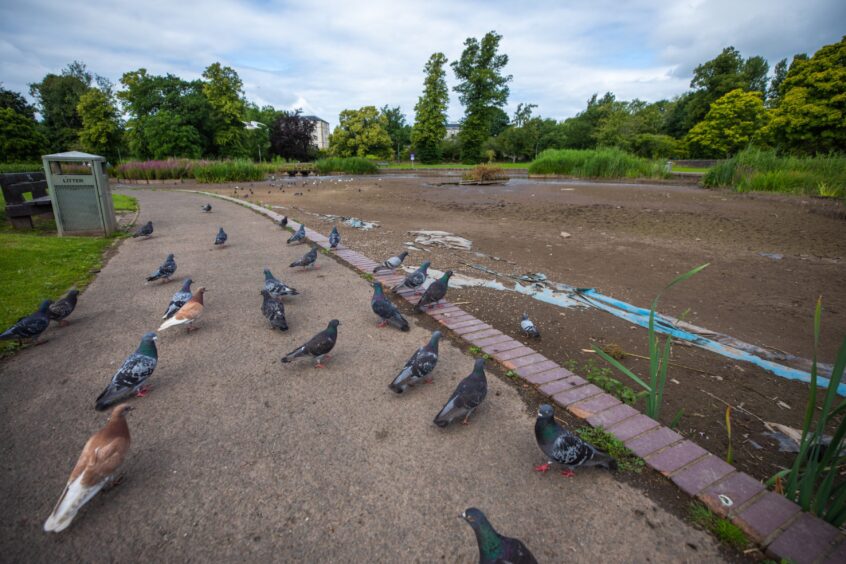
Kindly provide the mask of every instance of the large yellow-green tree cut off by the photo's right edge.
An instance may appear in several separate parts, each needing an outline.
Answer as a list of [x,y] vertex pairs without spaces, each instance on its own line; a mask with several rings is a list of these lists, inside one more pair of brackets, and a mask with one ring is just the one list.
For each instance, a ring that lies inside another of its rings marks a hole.
[[814,154],[846,149],[846,37],[808,59],[794,57],[763,134],[777,147]]

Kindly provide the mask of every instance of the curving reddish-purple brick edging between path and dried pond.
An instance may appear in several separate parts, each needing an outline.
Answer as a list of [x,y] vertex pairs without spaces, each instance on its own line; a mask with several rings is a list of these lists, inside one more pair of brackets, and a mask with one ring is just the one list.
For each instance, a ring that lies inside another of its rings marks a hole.
[[[274,221],[282,215],[237,198],[185,190],[241,204]],[[288,227],[300,224],[288,218]],[[329,239],[305,228],[306,237],[329,249]],[[355,270],[370,274],[385,286],[399,284],[404,275],[390,271],[373,274],[380,263],[343,245],[332,252]],[[414,291],[401,291],[410,304],[420,299]],[[424,313],[465,342],[480,347],[505,370],[534,386],[560,409],[566,409],[592,426],[602,426],[623,441],[647,466],[667,476],[687,495],[743,529],[767,554],[796,564],[846,562],[846,534],[801,508],[786,497],[767,491],[752,476],[738,471],[722,458],[683,438],[675,431],[620,403],[587,380],[573,374],[523,343],[496,330],[445,300]]]

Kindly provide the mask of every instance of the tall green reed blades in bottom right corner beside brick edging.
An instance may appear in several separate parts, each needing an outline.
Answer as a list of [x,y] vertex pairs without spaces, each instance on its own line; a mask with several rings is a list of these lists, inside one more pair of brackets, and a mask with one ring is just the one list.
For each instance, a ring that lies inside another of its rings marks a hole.
[[[822,409],[814,423],[817,412],[817,356],[821,312],[822,298],[817,300],[814,311],[814,356],[799,452],[792,466],[777,473],[769,483],[772,484],[777,478],[783,480],[786,497],[798,503],[803,510],[810,511],[835,527],[840,527],[846,523],[846,480],[840,475],[846,464],[846,417],[843,417],[846,413],[846,400],[840,400],[836,407],[835,401],[837,387],[842,382],[843,372],[846,370],[846,338],[837,351]],[[838,417],[840,423],[831,437],[831,442],[824,445],[825,431],[835,424]]]

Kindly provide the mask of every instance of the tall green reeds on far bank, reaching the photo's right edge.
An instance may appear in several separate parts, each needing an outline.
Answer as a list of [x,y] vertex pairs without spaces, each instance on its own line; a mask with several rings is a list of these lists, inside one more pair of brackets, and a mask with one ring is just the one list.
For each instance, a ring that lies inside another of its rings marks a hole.
[[702,183],[737,192],[784,192],[846,198],[846,156],[779,156],[750,148],[717,163]]

